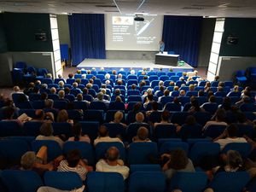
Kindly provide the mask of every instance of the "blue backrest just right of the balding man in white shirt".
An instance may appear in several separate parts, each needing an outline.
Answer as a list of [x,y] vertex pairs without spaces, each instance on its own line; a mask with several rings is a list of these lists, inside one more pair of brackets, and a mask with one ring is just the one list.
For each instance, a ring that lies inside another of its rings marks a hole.
[[157,157],[157,154],[156,143],[131,143],[128,148],[128,164],[150,164],[150,157]]

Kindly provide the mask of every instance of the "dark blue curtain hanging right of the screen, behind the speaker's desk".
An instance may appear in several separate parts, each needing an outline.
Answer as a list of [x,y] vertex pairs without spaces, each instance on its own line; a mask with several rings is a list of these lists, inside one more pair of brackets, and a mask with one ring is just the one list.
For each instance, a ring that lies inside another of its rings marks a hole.
[[165,15],[162,38],[166,51],[174,51],[180,60],[197,67],[202,17]]

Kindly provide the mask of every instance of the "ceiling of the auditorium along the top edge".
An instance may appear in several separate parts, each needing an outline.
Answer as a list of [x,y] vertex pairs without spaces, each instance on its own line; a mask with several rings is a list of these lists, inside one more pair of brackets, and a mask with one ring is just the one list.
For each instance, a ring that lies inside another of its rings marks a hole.
[[256,17],[256,0],[0,0],[0,11]]

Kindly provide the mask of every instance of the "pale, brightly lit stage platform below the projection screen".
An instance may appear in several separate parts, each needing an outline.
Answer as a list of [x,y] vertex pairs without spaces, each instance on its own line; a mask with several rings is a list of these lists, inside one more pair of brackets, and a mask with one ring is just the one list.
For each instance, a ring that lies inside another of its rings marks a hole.
[[194,70],[194,67],[189,66],[188,63],[184,63],[184,66],[166,66],[166,65],[158,65],[154,64],[152,60],[110,60],[110,59],[85,59],[78,66],[79,69],[84,68],[86,70],[91,69],[92,67],[96,67],[96,69],[100,69],[104,67],[106,71],[112,71],[113,69],[119,70],[120,68],[124,68],[125,71],[129,71],[131,68],[136,72],[142,70],[143,68],[153,67],[154,70],[158,70],[162,68],[163,72],[169,72],[170,68],[172,68],[173,72],[190,72]]

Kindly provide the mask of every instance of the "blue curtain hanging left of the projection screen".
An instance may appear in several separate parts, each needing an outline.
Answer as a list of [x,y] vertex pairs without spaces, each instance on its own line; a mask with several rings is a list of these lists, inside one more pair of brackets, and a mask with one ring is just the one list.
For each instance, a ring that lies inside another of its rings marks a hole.
[[74,66],[85,58],[106,59],[104,15],[73,14],[68,23]]

